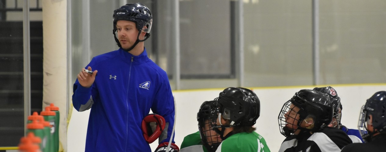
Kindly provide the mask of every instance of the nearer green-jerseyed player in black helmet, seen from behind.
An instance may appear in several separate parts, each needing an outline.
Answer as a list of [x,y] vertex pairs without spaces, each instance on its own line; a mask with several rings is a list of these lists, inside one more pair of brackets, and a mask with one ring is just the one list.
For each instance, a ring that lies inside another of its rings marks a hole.
[[216,152],[270,152],[265,139],[252,127],[260,116],[260,100],[249,89],[229,87],[211,110],[214,129],[223,140]]

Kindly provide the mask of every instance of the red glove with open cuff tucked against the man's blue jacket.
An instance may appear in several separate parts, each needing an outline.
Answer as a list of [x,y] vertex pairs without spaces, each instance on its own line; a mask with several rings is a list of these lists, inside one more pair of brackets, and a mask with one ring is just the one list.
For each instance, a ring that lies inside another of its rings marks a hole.
[[151,144],[165,129],[165,119],[161,115],[149,114],[142,120],[141,128],[146,142]]

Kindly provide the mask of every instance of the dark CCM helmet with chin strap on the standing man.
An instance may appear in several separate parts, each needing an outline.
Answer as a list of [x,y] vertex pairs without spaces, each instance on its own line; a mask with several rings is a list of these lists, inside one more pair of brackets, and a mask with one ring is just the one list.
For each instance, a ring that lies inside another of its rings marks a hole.
[[[137,45],[139,42],[145,41],[147,38],[150,37],[150,30],[151,30],[151,25],[153,22],[153,15],[150,12],[149,8],[147,8],[144,4],[142,3],[128,3],[116,10],[114,10],[113,13],[113,35],[115,42],[117,42],[118,47],[122,47],[119,43],[119,40],[116,36],[117,32],[117,22],[119,20],[127,20],[134,22],[137,29],[138,29],[138,36],[137,40],[134,43],[134,45],[127,49],[126,51],[132,50],[135,45]],[[146,27],[146,28],[144,28]],[[141,32],[145,32],[145,37],[143,40],[139,40],[139,35]]]

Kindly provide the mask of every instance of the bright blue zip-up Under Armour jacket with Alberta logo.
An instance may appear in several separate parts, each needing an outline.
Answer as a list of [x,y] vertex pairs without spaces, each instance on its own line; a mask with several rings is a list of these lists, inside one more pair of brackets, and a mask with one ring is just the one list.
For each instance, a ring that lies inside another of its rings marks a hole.
[[160,143],[169,142],[174,124],[173,94],[166,72],[147,57],[146,48],[139,56],[120,48],[94,57],[86,69],[88,66],[98,70],[93,85],[82,87],[77,79],[73,88],[75,109],[91,108],[86,152],[151,152],[141,130],[150,109],[165,118],[159,139]]

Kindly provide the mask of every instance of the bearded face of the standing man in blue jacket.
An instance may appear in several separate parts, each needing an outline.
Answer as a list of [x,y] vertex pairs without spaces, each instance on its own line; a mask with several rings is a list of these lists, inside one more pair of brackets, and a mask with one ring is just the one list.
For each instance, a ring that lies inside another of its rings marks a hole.
[[118,40],[122,48],[129,49],[137,40],[138,29],[134,22],[127,20],[117,21]]

